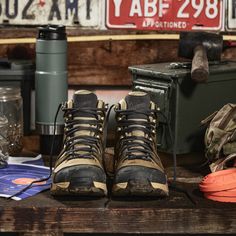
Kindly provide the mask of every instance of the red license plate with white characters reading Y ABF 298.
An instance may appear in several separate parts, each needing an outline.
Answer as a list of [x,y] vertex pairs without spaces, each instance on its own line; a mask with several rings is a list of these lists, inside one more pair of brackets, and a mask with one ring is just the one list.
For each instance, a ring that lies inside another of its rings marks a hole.
[[106,0],[106,25],[114,29],[220,30],[223,0]]

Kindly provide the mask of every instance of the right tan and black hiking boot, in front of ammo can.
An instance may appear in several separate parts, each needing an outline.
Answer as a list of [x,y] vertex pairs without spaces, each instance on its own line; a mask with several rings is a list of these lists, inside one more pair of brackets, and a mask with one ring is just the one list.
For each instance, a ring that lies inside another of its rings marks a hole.
[[167,196],[167,177],[156,150],[156,105],[131,92],[116,106],[114,196]]

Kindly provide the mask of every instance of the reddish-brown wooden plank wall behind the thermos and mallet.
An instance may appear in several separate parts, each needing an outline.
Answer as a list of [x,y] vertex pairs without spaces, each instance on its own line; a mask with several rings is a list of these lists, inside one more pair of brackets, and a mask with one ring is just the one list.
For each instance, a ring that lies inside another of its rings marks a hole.
[[[140,32],[68,30],[69,36],[98,34],[140,34]],[[1,39],[35,38],[36,35],[36,28],[0,28]],[[177,51],[178,40],[69,43],[69,84],[85,86],[131,86],[131,76],[128,72],[128,66],[183,60],[178,58]],[[34,60],[35,44],[0,44],[0,57]],[[227,49],[223,53],[222,58],[234,60],[236,58],[236,48]]]

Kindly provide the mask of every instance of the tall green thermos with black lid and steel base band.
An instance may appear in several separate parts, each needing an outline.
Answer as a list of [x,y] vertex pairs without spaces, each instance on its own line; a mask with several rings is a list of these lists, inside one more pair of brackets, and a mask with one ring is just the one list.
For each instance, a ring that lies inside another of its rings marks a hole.
[[[49,154],[58,106],[67,101],[67,36],[65,26],[39,27],[36,41],[35,107],[40,151]],[[53,154],[60,152],[64,121],[60,111],[55,125]]]

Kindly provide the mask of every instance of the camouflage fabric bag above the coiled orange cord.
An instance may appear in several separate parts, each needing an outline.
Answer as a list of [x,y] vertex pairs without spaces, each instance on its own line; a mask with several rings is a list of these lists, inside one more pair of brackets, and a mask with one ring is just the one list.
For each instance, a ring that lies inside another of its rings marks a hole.
[[236,104],[226,104],[202,121],[205,133],[205,155],[212,172],[236,164]]

